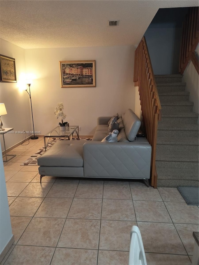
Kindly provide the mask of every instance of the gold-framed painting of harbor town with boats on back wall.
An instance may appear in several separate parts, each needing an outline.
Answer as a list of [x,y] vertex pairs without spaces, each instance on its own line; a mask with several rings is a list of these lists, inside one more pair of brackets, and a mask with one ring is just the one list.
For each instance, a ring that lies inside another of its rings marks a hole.
[[59,63],[61,87],[95,87],[95,60]]

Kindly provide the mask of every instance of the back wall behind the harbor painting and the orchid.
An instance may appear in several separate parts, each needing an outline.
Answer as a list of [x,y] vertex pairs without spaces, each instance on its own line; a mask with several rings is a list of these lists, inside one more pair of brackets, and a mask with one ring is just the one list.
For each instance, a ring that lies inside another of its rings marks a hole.
[[[93,135],[97,117],[135,109],[133,46],[26,49],[27,72],[36,76],[31,85],[36,131],[47,133],[58,125],[54,109],[63,102],[70,125],[80,135]],[[96,87],[61,88],[59,61],[95,60]]]

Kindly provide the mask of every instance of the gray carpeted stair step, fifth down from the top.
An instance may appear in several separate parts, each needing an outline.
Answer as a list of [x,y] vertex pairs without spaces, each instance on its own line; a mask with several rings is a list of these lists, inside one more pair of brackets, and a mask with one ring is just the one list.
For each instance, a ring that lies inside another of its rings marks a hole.
[[[160,102],[161,103],[161,102]],[[197,123],[198,120],[198,113],[195,112],[177,112],[177,113],[162,113],[161,115],[161,122],[164,123]],[[159,126],[159,125],[158,125]]]

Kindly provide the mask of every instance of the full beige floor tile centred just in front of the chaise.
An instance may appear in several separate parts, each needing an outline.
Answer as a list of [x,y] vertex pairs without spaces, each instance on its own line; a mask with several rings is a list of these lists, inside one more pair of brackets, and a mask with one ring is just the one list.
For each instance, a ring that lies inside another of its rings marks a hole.
[[73,198],[77,183],[54,183],[47,197]]

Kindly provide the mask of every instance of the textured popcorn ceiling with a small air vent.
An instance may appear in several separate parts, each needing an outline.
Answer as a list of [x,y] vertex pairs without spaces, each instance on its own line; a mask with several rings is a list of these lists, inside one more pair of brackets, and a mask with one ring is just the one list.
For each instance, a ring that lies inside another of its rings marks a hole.
[[191,6],[198,1],[0,0],[0,37],[22,48],[137,46],[159,8]]

